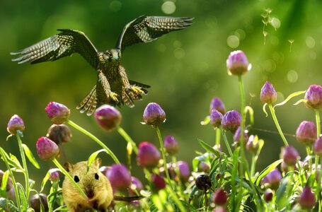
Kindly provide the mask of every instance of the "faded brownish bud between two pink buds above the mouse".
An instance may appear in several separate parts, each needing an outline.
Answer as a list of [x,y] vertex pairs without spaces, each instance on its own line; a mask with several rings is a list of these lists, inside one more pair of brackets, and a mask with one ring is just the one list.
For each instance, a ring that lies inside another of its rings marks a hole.
[[57,145],[71,141],[71,131],[65,124],[52,124],[46,136]]

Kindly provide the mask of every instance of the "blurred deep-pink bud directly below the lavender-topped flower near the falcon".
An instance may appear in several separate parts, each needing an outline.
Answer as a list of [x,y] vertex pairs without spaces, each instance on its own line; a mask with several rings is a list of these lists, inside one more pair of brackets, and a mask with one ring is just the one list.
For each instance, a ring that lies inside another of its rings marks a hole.
[[159,164],[160,159],[161,153],[152,143],[142,142],[139,144],[137,151],[137,163],[139,166],[153,168]]

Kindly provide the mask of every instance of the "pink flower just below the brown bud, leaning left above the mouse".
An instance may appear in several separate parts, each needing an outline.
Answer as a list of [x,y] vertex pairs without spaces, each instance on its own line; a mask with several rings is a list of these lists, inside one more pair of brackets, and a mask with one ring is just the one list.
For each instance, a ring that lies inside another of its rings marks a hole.
[[59,148],[57,144],[44,136],[38,139],[36,148],[39,158],[42,160],[52,159],[59,155]]

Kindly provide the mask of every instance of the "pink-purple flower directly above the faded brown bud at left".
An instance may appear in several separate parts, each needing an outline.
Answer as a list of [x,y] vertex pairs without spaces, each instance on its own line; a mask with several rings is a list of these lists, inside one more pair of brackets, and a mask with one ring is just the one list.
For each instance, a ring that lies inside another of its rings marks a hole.
[[45,111],[53,124],[64,124],[69,119],[69,108],[60,103],[49,102]]

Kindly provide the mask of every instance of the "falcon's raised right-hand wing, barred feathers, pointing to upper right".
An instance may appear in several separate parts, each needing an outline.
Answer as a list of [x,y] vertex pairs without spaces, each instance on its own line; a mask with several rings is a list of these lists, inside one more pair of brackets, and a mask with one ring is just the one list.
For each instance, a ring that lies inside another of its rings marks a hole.
[[193,18],[167,16],[140,16],[125,25],[116,48],[123,52],[125,47],[138,42],[151,42],[176,30],[183,30],[192,24]]

